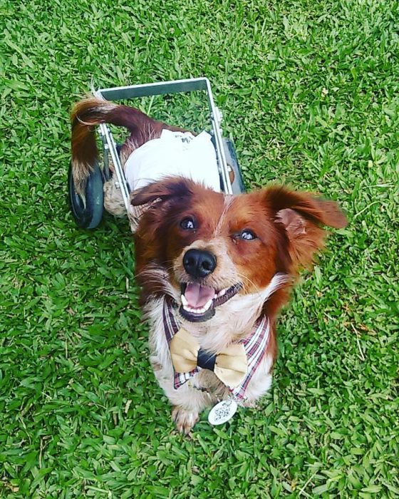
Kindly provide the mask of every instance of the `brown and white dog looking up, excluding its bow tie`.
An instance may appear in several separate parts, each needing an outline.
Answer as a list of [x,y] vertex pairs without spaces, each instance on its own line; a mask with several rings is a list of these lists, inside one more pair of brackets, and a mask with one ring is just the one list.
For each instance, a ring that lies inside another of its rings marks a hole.
[[[93,125],[101,122],[130,130],[122,164],[162,129],[180,130],[127,106],[81,101],[72,113],[73,175],[80,192],[97,155]],[[346,217],[336,202],[309,192],[273,186],[230,196],[182,177],[152,182],[131,202],[149,207],[135,232],[135,262],[150,323],[150,361],[177,428],[188,433],[204,408],[238,392],[200,364],[189,381],[176,384],[165,321],[184,329],[214,359],[249,339],[262,319],[267,337],[236,397],[239,405],[253,406],[271,385],[279,311],[300,269],[311,266],[323,247],[321,225],[344,227]]]

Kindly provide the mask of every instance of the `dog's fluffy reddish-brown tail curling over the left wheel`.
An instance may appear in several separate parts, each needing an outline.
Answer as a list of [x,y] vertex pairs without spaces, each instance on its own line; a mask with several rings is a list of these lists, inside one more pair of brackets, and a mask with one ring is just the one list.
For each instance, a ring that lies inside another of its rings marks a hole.
[[164,124],[152,120],[140,110],[120,106],[95,97],[78,102],[71,113],[72,173],[76,192],[83,195],[86,180],[98,158],[95,125],[112,123],[128,128],[136,143],[145,143],[148,135],[160,133]]

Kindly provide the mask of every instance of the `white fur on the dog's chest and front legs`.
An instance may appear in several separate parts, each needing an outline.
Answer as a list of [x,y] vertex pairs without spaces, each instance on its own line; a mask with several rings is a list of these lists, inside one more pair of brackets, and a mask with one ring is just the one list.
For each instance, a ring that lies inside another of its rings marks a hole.
[[[285,275],[277,274],[262,292],[244,296],[236,295],[229,302],[219,307],[212,319],[204,323],[192,323],[182,319],[182,317],[179,317],[179,320],[185,326],[185,329],[197,338],[203,349],[217,353],[232,341],[250,334],[255,321],[257,321],[261,313],[264,302],[286,282],[286,279]],[[189,408],[190,411],[197,411],[199,406],[212,404],[214,398],[202,391],[192,393],[193,389],[211,387],[214,389],[219,382],[215,379],[213,373],[209,371],[208,375],[204,375],[204,373],[202,373],[202,376],[195,375],[190,384],[187,383],[180,389],[174,389],[174,370],[165,336],[162,310],[162,298],[152,299],[147,303],[146,315],[147,320],[150,322],[150,361],[152,367],[160,386],[164,389],[173,405],[184,406]],[[259,396],[269,390],[272,362],[271,355],[266,353],[247,386],[244,405],[252,405]],[[204,386],[207,383],[209,383],[209,386]],[[219,397],[228,396],[225,387],[216,391]]]

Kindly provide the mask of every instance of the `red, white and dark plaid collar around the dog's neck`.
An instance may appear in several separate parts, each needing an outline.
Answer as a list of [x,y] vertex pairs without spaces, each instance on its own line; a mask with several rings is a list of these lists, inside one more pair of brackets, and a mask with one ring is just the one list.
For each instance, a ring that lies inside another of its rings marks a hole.
[[[167,299],[164,299],[162,314],[165,336],[167,339],[167,344],[169,345],[170,340],[173,338],[173,336],[175,336],[177,331],[179,331],[179,323],[175,317],[173,307],[167,303]],[[254,376],[254,372],[257,370],[259,364],[261,363],[261,359],[263,359],[263,356],[266,353],[266,348],[269,344],[270,338],[269,333],[269,318],[265,315],[262,315],[255,322],[251,334],[249,334],[247,338],[239,341],[239,343],[242,343],[244,345],[244,349],[247,354],[248,372],[241,385],[237,386],[236,388],[229,388],[230,393],[232,393],[234,398],[239,398],[240,400],[244,400],[246,398],[245,391],[247,390],[249,381],[251,381],[252,376]],[[185,384],[186,381],[197,374],[197,372],[201,371],[201,369],[201,367],[196,367],[193,371],[190,371],[188,373],[175,372],[173,381],[173,386],[175,387],[175,389],[180,388],[180,386]]]

